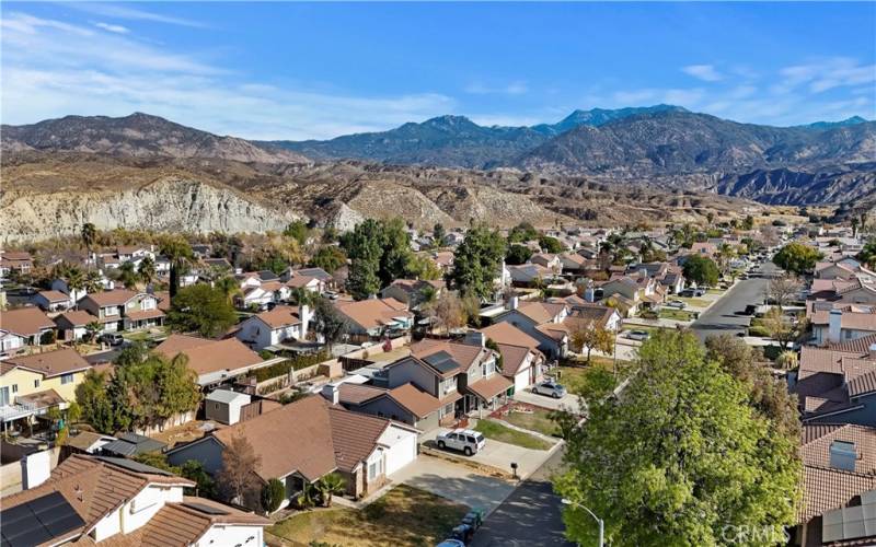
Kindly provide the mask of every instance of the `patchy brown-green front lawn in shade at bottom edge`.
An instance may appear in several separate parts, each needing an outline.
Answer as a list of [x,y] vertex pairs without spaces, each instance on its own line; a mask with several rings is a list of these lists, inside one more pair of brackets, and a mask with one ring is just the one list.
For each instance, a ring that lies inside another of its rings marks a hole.
[[[331,509],[292,515],[267,528],[296,546],[436,545],[469,511],[418,488],[400,485],[362,510]],[[268,536],[267,542],[275,544]]]

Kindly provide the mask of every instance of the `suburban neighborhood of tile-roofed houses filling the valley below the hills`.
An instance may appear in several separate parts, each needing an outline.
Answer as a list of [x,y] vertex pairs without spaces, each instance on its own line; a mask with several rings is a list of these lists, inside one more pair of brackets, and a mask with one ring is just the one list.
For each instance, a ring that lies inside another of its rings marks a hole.
[[62,525],[21,532],[46,544],[500,545],[509,500],[549,485],[564,544],[567,444],[648,374],[639,349],[704,339],[795,401],[787,543],[876,539],[842,525],[876,499],[876,254],[860,228],[522,222],[415,244],[438,232],[290,225],[284,255],[84,225],[60,255],[3,251],[4,521],[56,508]]

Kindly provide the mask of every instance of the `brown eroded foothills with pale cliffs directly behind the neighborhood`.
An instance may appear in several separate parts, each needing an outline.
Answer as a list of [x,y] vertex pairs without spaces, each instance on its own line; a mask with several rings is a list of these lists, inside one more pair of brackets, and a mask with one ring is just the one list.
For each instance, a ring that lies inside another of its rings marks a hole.
[[696,222],[708,212],[729,218],[760,207],[584,177],[350,161],[260,164],[25,151],[7,154],[0,176],[0,241],[76,234],[83,222],[195,232],[279,230],[296,218],[348,230],[364,218],[390,216],[418,228],[521,220],[624,225]]

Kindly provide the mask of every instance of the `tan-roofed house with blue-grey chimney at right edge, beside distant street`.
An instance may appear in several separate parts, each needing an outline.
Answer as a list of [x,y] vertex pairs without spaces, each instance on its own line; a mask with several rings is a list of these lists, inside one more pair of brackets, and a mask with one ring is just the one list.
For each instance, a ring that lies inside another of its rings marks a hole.
[[876,334],[876,305],[817,301],[807,302],[806,309],[818,346]]

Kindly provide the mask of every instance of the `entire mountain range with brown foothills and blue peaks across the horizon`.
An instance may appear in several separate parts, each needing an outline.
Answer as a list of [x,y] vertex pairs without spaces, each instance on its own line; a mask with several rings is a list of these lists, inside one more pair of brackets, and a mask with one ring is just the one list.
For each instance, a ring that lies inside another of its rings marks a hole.
[[348,228],[393,212],[424,226],[508,225],[696,221],[756,211],[752,201],[876,203],[876,123],[857,117],[770,127],[657,105],[531,127],[441,116],[266,142],[137,113],[2,126],[0,137],[0,236],[16,238],[69,233],[85,219],[260,231],[298,217]]

